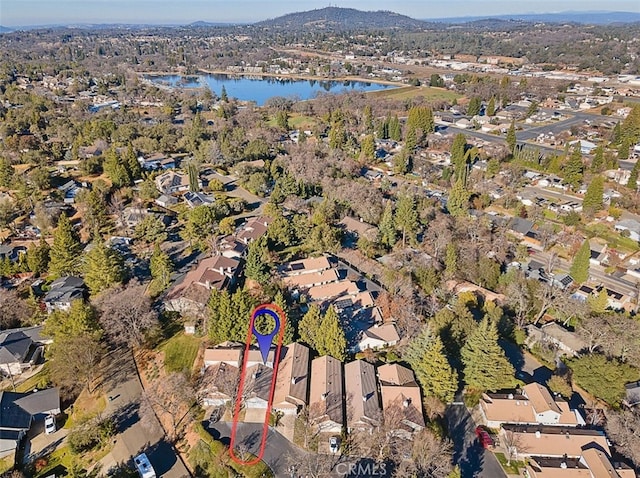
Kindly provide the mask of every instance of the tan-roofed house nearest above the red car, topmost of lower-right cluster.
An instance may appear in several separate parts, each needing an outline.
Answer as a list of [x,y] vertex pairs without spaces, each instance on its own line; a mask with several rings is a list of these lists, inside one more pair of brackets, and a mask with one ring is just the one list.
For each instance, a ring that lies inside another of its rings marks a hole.
[[566,401],[552,397],[546,387],[535,382],[525,385],[521,391],[485,393],[479,409],[489,428],[499,428],[504,423],[565,427],[585,424],[578,410],[572,410]]

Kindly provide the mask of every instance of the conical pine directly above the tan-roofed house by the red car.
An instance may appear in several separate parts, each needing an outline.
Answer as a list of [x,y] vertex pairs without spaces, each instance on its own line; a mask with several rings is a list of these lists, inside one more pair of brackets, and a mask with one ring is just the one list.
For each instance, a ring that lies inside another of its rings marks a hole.
[[515,370],[498,344],[496,324],[482,319],[460,350],[466,384],[481,391],[511,386]]

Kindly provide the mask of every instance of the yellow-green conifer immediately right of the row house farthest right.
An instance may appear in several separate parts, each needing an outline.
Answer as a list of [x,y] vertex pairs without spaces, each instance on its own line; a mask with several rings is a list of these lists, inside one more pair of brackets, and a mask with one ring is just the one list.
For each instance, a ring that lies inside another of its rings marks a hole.
[[415,372],[425,396],[436,397],[444,403],[453,401],[458,374],[449,365],[440,336],[434,336],[429,327],[423,328],[407,347],[404,358]]

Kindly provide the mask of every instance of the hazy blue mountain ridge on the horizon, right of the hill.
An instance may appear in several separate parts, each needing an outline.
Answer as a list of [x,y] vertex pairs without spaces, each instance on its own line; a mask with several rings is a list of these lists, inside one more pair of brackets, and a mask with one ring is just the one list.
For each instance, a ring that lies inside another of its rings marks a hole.
[[446,17],[424,19],[436,23],[471,23],[481,20],[517,20],[524,22],[544,23],[583,23],[590,25],[608,25],[612,23],[640,22],[640,12],[558,12],[558,13],[514,13],[509,15],[485,15],[469,17]]

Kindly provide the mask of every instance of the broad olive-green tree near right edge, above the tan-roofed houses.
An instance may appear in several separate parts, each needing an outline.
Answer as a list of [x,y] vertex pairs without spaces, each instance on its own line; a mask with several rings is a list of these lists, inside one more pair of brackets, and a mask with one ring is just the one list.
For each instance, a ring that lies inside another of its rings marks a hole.
[[583,355],[566,363],[578,385],[612,407],[618,407],[625,397],[624,385],[640,378],[635,367],[601,354]]

